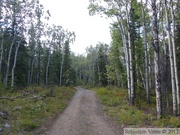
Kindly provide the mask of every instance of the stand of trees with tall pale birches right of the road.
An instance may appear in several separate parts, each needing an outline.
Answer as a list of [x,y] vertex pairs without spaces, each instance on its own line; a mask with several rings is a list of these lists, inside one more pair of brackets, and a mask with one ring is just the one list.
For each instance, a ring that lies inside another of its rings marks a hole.
[[[85,84],[128,89],[129,105],[156,98],[158,118],[179,115],[180,2],[172,0],[92,0],[91,15],[113,20],[112,44],[87,48],[76,66]],[[82,62],[84,61],[84,62]],[[80,81],[79,81],[80,82]]]

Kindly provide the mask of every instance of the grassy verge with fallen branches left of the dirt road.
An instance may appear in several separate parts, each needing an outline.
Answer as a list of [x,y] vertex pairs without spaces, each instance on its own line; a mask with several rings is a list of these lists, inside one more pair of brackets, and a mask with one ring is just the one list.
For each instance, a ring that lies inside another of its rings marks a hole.
[[[10,101],[0,99],[0,112],[6,112],[7,118],[0,116],[0,128],[2,133],[12,135],[34,134],[43,123],[54,119],[68,105],[69,100],[75,93],[74,88],[54,87],[53,95],[50,96],[50,88],[31,87],[23,91],[14,93],[2,93],[0,96],[16,97],[22,93],[31,93],[23,97]],[[5,124],[11,125],[10,129],[5,129]],[[1,132],[0,132],[1,134]]]

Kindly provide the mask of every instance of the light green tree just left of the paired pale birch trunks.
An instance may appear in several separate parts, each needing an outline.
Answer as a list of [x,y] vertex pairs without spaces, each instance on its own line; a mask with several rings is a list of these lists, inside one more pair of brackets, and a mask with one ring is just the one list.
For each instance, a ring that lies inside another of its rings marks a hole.
[[108,81],[111,85],[124,87],[126,71],[124,67],[124,48],[122,38],[116,23],[111,28],[112,45],[108,55],[109,64],[106,66]]

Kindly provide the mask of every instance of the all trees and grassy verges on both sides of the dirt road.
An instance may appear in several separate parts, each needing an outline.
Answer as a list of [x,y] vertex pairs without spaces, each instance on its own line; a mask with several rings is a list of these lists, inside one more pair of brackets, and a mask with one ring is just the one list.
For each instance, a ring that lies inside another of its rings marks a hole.
[[41,84],[108,86],[95,91],[123,125],[180,127],[180,1],[147,2],[89,0],[90,15],[113,18],[112,41],[77,55],[75,32],[39,0],[0,0],[0,134],[35,131],[74,93]]

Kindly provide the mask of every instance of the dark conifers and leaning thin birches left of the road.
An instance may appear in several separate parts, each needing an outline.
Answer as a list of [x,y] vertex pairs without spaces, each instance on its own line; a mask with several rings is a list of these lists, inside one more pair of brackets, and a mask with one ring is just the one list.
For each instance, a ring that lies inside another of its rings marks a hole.
[[70,85],[75,33],[49,25],[39,0],[0,1],[0,86]]

